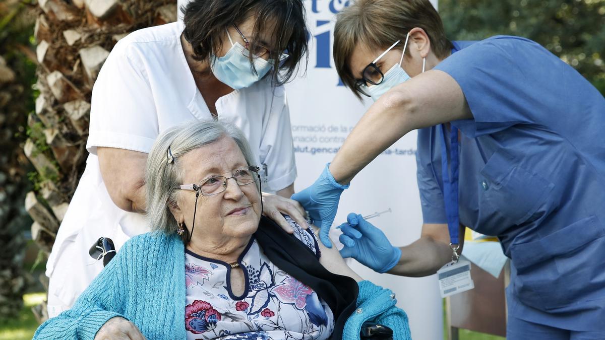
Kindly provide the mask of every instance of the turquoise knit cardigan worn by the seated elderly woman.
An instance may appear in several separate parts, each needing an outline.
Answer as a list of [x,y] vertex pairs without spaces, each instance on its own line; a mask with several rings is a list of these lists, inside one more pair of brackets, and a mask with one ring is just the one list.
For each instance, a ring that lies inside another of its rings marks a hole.
[[[124,244],[70,310],[44,322],[34,339],[94,339],[105,322],[122,316],[151,339],[186,339],[185,249],[176,235],[143,234]],[[391,291],[359,283],[358,309],[343,339],[359,339],[364,321],[388,325],[394,340],[410,339],[405,312]]]

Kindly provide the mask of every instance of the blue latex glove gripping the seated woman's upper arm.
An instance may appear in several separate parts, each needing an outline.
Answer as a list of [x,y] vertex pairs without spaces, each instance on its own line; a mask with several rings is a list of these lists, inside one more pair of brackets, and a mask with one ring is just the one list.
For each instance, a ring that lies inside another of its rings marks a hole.
[[296,194],[292,195],[292,199],[302,204],[306,211],[309,212],[309,217],[312,218],[313,224],[319,227],[319,240],[321,240],[321,243],[326,247],[332,248],[332,242],[330,242],[328,234],[336,217],[340,195],[349,185],[339,184],[332,174],[330,174],[329,166],[330,163],[325,165],[324,172],[321,173],[312,186],[303,191],[296,192]]

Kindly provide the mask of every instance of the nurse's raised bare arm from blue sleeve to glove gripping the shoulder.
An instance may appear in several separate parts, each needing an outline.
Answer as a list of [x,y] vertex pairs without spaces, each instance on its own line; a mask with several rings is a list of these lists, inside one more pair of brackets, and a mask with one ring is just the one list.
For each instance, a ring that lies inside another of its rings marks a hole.
[[473,115],[460,85],[449,74],[431,70],[383,94],[359,120],[330,164],[341,184],[408,132]]

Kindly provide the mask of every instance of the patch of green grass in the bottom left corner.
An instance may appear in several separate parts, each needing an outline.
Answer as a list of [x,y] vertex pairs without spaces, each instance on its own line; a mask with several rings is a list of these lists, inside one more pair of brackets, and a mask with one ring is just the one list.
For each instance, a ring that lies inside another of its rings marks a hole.
[[15,319],[0,320],[0,340],[31,339],[38,329],[38,321],[31,307],[44,301],[45,293],[30,293],[23,296],[25,306]]

